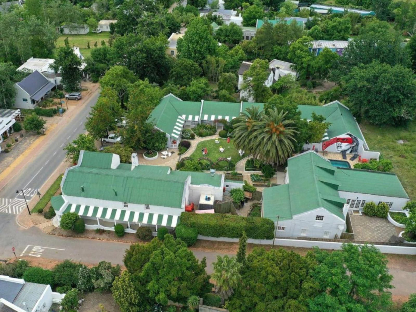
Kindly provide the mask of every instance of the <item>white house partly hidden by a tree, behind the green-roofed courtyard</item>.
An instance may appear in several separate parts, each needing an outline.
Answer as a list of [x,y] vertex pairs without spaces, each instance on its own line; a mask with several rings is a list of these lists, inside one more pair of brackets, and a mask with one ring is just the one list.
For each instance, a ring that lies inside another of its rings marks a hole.
[[[247,90],[242,90],[244,84],[243,75],[250,69],[252,64],[253,63],[250,62],[242,62],[240,69],[238,69],[238,89],[240,90],[240,99],[247,99],[248,102],[254,102],[254,99]],[[267,77],[267,80],[264,82],[265,86],[270,87],[277,82],[280,77],[288,74],[296,79],[298,74],[295,69],[292,69],[292,66],[292,63],[280,61],[279,59],[272,59],[269,62],[269,77]]]

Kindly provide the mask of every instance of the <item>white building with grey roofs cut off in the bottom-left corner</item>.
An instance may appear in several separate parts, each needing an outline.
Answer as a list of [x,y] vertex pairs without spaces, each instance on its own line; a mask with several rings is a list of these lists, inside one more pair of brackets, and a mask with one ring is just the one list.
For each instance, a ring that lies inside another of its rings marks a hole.
[[60,303],[64,296],[52,292],[50,285],[0,275],[0,311],[47,312],[52,303]]

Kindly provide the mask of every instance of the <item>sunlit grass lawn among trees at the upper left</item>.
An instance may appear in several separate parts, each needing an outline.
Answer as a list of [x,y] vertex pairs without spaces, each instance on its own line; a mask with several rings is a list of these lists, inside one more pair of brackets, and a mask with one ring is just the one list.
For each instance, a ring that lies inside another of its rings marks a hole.
[[[79,47],[81,54],[84,57],[88,57],[91,54],[91,49],[94,49],[94,44],[97,42],[98,47],[101,47],[101,41],[104,40],[108,45],[108,38],[110,37],[109,32],[102,32],[99,34],[94,34],[92,32],[88,33],[87,35],[60,35],[56,41],[57,47],[62,47],[64,45],[65,38],[68,38],[69,45],[72,47],[73,45]],[[89,46],[91,49],[87,49],[87,45],[89,42]]]

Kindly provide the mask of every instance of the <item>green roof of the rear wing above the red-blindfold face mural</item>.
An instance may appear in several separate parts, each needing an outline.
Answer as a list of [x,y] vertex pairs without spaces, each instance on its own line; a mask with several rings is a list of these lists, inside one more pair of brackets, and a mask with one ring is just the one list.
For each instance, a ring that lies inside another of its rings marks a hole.
[[331,123],[327,130],[329,138],[351,133],[364,141],[361,130],[351,111],[340,102],[334,101],[324,106],[299,105],[298,107],[303,119],[312,119],[312,112],[326,117],[326,121]]

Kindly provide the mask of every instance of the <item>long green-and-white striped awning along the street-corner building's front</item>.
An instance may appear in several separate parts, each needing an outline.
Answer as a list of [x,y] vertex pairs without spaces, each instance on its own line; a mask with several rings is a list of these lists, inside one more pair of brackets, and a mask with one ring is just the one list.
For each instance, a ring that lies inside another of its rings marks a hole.
[[137,212],[98,206],[68,204],[67,208],[65,208],[63,213],[67,212],[75,212],[78,213],[78,215],[83,215],[92,218],[170,226],[172,228],[176,227],[176,224],[178,224],[179,222],[179,217],[177,215]]

